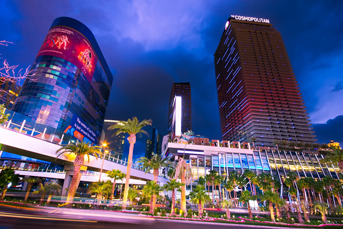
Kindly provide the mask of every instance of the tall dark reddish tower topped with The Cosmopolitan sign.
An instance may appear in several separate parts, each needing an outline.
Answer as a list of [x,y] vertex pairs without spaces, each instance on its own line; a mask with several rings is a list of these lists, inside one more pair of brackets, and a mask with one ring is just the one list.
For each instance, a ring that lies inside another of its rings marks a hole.
[[214,60],[223,140],[316,140],[282,37],[268,19],[231,15]]

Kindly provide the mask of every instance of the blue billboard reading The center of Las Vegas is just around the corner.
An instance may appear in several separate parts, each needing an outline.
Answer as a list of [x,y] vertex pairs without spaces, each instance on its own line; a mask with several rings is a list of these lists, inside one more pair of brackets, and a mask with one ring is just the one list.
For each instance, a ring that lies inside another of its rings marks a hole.
[[75,114],[73,115],[70,125],[67,127],[64,133],[70,134],[76,139],[86,143],[96,143],[99,137],[95,131],[93,131],[81,118]]

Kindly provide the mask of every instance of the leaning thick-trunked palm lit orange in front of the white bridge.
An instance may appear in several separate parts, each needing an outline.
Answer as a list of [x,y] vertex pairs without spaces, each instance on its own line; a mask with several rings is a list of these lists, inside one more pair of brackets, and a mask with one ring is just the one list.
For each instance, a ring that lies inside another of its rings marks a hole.
[[59,157],[61,154],[64,154],[65,152],[69,152],[68,156],[70,154],[74,154],[76,156],[74,160],[74,173],[69,186],[66,207],[71,207],[72,205],[75,191],[77,189],[76,183],[78,179],[78,174],[80,173],[81,167],[85,163],[85,156],[88,157],[88,160],[89,155],[93,155],[96,159],[98,159],[98,157],[101,158],[102,154],[100,149],[100,146],[89,146],[88,143],[80,141],[76,144],[71,142],[70,144],[63,145],[56,151],[57,154],[60,153],[57,157]]

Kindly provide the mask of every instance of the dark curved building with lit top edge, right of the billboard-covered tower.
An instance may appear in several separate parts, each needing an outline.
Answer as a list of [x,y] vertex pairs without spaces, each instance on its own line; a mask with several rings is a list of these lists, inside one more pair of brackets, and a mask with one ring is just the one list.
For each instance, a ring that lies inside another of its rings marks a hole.
[[124,143],[125,143],[125,133],[120,133],[119,135],[115,135],[118,129],[109,130],[111,125],[116,124],[118,121],[116,120],[108,120],[105,119],[103,122],[102,130],[105,132],[105,140],[104,142],[107,143],[107,149],[111,153],[111,156],[114,156],[116,159],[119,160],[123,157],[124,152]]

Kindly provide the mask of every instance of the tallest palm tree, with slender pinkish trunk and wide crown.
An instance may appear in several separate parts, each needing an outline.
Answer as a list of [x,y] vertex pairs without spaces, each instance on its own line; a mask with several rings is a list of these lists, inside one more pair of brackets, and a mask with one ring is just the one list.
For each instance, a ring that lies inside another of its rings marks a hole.
[[[148,133],[142,128],[146,125],[151,125],[151,120],[144,119],[141,122],[138,122],[136,117],[131,119],[127,119],[127,121],[119,121],[117,124],[111,125],[109,130],[118,129],[115,135],[119,135],[121,133],[129,134],[127,140],[130,143],[130,148],[128,151],[128,159],[127,159],[127,171],[126,171],[126,180],[125,180],[125,189],[124,189],[124,196],[123,196],[123,209],[126,209],[126,202],[127,202],[127,193],[128,193],[128,185],[130,181],[130,173],[131,173],[131,166],[132,166],[132,156],[134,154],[134,146],[136,143],[136,134],[143,133],[148,135]],[[149,136],[149,135],[148,135]]]

